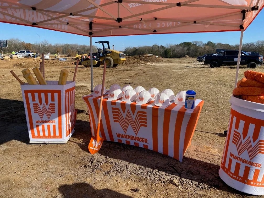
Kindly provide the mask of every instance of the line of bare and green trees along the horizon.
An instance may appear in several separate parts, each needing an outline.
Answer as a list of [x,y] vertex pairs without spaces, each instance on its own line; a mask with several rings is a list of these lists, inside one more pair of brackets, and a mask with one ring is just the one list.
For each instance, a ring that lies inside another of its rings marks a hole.
[[[89,45],[79,45],[79,44],[50,44],[47,40],[41,41],[41,43],[25,43],[24,41],[19,40],[18,38],[12,38],[7,40],[8,48],[3,49],[3,53],[11,53],[12,50],[18,52],[20,50],[31,50],[39,51],[41,47],[41,52],[47,54],[48,51],[50,54],[69,54],[70,56],[75,56],[78,51],[83,51],[87,54],[90,52]],[[97,46],[92,46],[93,51],[96,51]],[[208,41],[203,43],[202,41],[192,41],[192,42],[183,42],[180,44],[167,44],[163,45],[152,45],[152,46],[138,46],[138,47],[127,47],[123,51],[126,56],[135,56],[135,55],[145,55],[153,54],[155,56],[163,58],[181,58],[185,55],[189,57],[196,58],[204,54],[215,53],[216,49],[227,49],[227,50],[238,50],[239,44],[230,45],[223,43],[213,43]],[[264,40],[258,40],[251,43],[243,43],[242,51],[254,51],[259,52],[261,55],[264,54]]]

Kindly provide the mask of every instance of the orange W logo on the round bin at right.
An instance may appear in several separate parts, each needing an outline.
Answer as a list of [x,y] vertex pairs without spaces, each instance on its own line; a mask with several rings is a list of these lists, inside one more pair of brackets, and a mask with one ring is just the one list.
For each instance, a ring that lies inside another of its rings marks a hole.
[[257,154],[264,154],[264,141],[259,140],[253,147],[250,138],[248,137],[242,142],[241,134],[234,130],[232,143],[237,147],[238,155],[241,155],[245,150],[248,152],[249,159],[252,160]]

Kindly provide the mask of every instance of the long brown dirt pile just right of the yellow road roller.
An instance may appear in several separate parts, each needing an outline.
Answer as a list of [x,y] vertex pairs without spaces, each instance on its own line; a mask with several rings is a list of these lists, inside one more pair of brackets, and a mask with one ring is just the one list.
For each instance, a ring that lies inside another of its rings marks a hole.
[[162,58],[159,58],[154,55],[143,55],[143,56],[126,56],[126,61],[122,63],[122,65],[140,65],[145,63],[157,63],[163,62]]

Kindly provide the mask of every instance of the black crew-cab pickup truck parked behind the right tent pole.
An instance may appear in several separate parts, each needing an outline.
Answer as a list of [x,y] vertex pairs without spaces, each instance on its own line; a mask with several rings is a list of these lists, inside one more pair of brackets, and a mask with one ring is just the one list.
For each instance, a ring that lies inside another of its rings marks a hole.
[[[237,65],[238,50],[224,51],[223,56],[205,56],[205,64],[210,64],[210,67],[221,67],[221,65]],[[248,68],[256,68],[261,65],[263,56],[248,55],[241,51],[240,65],[247,65]]]

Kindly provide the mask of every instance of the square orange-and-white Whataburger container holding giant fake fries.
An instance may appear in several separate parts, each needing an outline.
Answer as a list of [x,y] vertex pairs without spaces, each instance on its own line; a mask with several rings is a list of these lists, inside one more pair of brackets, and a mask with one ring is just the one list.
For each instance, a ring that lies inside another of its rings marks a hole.
[[74,133],[75,81],[21,85],[30,143],[66,143]]

